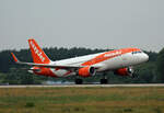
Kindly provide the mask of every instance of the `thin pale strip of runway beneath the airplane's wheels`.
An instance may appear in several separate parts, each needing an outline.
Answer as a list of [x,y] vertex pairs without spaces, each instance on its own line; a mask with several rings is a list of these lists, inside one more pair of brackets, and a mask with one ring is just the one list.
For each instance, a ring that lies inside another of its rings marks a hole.
[[87,87],[102,87],[102,88],[113,88],[113,87],[164,87],[164,83],[138,83],[138,84],[52,84],[52,86],[35,86],[35,84],[28,84],[28,86],[0,86],[0,88],[87,88]]

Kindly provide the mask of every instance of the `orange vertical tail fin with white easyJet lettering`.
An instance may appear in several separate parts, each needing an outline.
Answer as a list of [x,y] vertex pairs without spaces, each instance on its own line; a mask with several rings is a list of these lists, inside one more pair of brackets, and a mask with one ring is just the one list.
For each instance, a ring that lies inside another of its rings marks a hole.
[[36,64],[49,64],[50,59],[44,53],[44,50],[38,46],[35,39],[28,39],[30,48],[32,52],[33,61]]

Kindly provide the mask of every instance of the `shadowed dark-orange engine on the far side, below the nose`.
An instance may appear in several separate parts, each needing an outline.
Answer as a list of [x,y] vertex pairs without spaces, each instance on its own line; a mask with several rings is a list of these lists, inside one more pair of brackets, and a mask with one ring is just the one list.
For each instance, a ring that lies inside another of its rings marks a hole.
[[119,75],[119,76],[132,76],[133,74],[133,68],[128,67],[128,68],[120,68],[116,71],[114,71],[115,75]]

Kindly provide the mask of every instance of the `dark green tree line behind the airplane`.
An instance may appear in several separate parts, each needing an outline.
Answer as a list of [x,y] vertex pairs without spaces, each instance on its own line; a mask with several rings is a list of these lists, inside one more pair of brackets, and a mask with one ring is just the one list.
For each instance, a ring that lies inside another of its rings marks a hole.
[[[63,48],[63,47],[50,47],[44,48],[44,52],[51,60],[60,60],[65,58],[71,58],[87,54],[95,54],[99,52],[106,52],[109,49],[90,49],[90,48]],[[44,76],[35,76],[28,74],[26,70],[22,70],[22,66],[14,64],[11,56],[13,52],[17,58],[22,61],[33,61],[30,49],[21,50],[2,50],[0,52],[0,84],[39,84],[44,81],[74,81],[73,77],[68,78],[50,78]],[[162,83],[164,82],[164,48],[160,53],[145,52],[150,59],[148,63],[141,64],[134,67],[136,78],[116,76],[113,72],[108,72],[107,77],[110,83]],[[30,67],[25,67],[30,68]],[[85,82],[97,82],[102,75],[96,75],[91,78],[85,78]]]

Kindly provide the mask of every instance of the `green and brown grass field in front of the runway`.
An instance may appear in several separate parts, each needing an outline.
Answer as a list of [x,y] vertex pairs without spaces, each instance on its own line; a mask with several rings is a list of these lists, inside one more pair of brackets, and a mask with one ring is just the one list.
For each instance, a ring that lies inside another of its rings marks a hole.
[[0,113],[164,113],[164,88],[0,89]]

